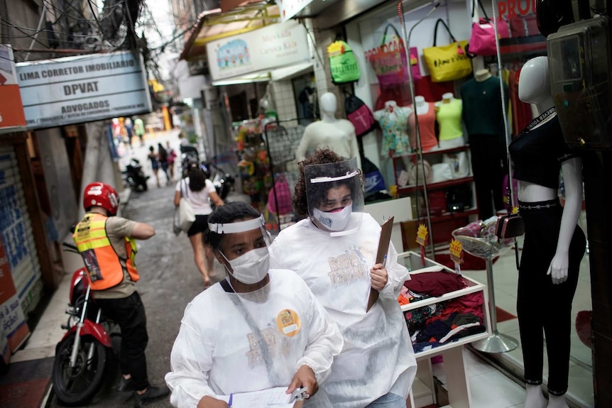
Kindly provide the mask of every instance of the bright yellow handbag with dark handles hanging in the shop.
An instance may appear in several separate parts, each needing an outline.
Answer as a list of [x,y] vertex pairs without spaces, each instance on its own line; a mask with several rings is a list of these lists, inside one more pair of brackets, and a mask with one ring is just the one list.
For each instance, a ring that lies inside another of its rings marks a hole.
[[[447,29],[453,41],[449,45],[436,45],[439,23],[442,23],[442,26]],[[471,60],[465,52],[466,45],[466,40],[457,41],[449,30],[447,23],[444,23],[442,18],[438,18],[434,28],[434,46],[423,48],[423,55],[432,75],[432,82],[454,81],[471,74]]]

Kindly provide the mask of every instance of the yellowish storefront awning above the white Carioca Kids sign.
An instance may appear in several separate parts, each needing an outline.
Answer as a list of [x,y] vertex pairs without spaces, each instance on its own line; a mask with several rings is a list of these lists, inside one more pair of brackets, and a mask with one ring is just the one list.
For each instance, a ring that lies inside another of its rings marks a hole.
[[205,60],[207,43],[280,21],[278,6],[267,1],[243,0],[227,12],[223,11],[223,6],[222,1],[222,8],[200,13],[185,41],[180,60]]

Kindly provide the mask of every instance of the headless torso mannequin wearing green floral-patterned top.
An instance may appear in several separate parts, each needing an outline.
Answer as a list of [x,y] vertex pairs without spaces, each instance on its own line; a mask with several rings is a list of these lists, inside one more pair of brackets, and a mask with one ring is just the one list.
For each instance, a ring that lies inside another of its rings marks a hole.
[[385,109],[374,112],[374,118],[383,130],[381,155],[393,157],[394,154],[410,153],[408,142],[408,118],[412,109],[398,106],[395,101],[386,101]]

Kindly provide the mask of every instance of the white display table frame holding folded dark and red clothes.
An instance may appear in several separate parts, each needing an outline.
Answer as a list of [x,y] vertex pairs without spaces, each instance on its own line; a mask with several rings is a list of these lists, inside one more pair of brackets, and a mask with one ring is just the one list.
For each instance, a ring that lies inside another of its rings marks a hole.
[[[435,262],[434,260],[430,260],[429,258],[425,258],[425,266],[423,266],[420,255],[411,251],[400,253],[398,255],[398,263],[405,265],[405,267],[410,270],[410,275],[437,271],[454,273],[454,270],[451,270],[446,266]],[[442,358],[444,358],[444,370],[447,377],[447,390],[449,397],[449,404],[445,405],[444,407],[470,407],[471,397],[469,391],[469,378],[466,375],[466,367],[464,365],[464,346],[474,341],[488,338],[488,336],[491,335],[491,319],[488,310],[486,286],[470,279],[469,277],[463,276],[462,278],[466,283],[466,287],[461,290],[449,292],[439,297],[430,297],[402,306],[402,311],[405,312],[431,304],[436,304],[438,302],[457,299],[465,296],[466,294],[481,292],[483,295],[482,324],[486,328],[486,331],[483,331],[482,333],[457,338],[457,340],[449,341],[448,343],[444,343],[444,345],[415,353],[415,357],[417,359],[417,378],[415,378],[415,383],[412,385],[412,390],[407,400],[408,407],[410,408],[419,408],[436,402],[431,364],[431,358],[434,355],[442,355]],[[424,389],[424,386],[430,390],[430,395],[427,393],[427,390]]]

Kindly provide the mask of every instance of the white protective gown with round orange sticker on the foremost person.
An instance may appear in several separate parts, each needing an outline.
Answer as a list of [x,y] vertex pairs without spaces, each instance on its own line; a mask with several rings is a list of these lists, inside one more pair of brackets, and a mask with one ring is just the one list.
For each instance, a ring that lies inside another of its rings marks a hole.
[[269,275],[256,292],[228,293],[217,283],[187,304],[165,375],[173,406],[195,408],[206,395],[288,386],[302,365],[319,384],[327,378],[342,348],[338,327],[295,272]]

